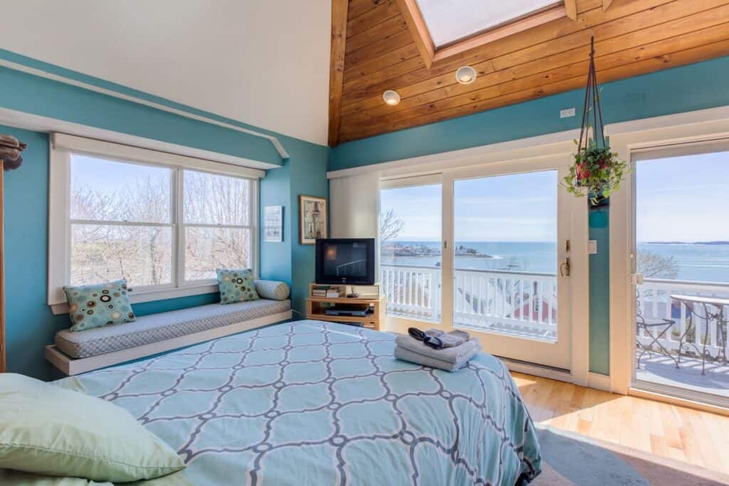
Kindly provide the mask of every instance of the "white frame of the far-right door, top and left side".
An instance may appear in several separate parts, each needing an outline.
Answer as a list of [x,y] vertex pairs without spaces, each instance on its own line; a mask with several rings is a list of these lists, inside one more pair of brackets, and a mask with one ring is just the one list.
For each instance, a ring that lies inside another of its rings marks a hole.
[[[729,136],[729,106],[607,125],[610,146],[621,160],[655,146]],[[635,302],[631,283],[634,177],[610,197],[610,389],[631,391],[635,353]]]

